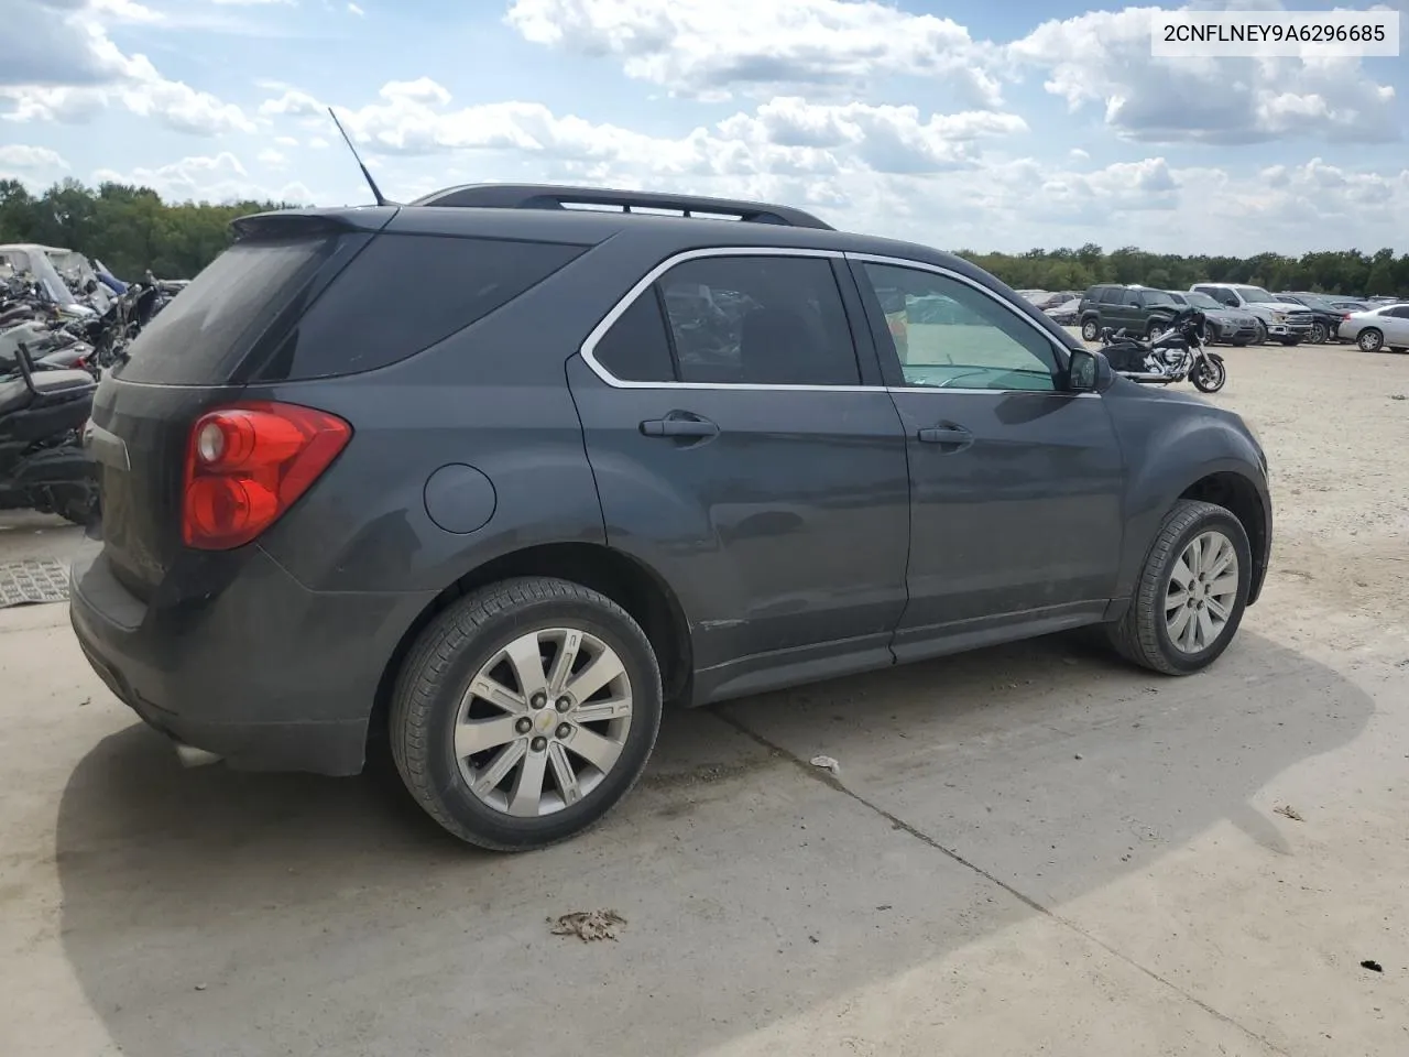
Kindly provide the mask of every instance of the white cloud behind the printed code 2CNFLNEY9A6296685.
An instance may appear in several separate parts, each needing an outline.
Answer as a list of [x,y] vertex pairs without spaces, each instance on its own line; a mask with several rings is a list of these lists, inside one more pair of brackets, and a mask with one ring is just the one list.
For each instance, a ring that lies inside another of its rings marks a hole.
[[1043,23],[1007,45],[1045,75],[1071,110],[1100,107],[1119,135],[1141,142],[1248,144],[1322,137],[1398,137],[1394,87],[1358,59],[1237,59],[1150,55],[1154,7]]

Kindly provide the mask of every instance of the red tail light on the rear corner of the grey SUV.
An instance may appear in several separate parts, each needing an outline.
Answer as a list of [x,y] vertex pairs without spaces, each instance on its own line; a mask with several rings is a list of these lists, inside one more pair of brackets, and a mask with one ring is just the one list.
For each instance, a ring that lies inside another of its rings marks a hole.
[[182,540],[241,547],[273,524],[352,437],[342,419],[313,407],[248,402],[207,412],[186,444]]

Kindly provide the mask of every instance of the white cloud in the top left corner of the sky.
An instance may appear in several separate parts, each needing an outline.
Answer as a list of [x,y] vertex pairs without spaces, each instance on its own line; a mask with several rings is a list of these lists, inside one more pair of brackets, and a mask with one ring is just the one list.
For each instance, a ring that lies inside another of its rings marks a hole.
[[[0,45],[0,117],[7,121],[86,121],[124,106],[196,135],[254,130],[238,106],[162,76],[145,55],[127,55],[113,42],[104,27],[108,17],[158,17],[132,0],[15,0],[15,13],[20,25],[11,37],[14,21],[8,23]],[[24,35],[34,14],[45,32],[61,32]]]

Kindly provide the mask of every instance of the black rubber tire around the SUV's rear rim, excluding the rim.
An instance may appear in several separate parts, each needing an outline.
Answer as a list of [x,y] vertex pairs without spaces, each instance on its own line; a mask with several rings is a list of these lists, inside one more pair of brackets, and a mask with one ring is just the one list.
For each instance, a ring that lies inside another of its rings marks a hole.
[[[631,724],[621,755],[581,801],[513,817],[471,791],[455,758],[454,724],[479,668],[535,626],[579,629],[616,651],[631,682]],[[548,576],[492,583],[431,622],[402,665],[389,717],[392,757],[411,796],[449,833],[492,851],[542,848],[599,822],[641,777],[659,729],[661,669],[645,633],[604,595]]]

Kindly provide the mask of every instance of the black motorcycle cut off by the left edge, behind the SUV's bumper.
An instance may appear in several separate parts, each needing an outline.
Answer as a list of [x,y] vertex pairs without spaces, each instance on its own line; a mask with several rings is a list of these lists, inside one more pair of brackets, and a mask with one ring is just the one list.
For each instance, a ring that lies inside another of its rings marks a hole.
[[39,369],[15,342],[17,375],[0,378],[0,510],[34,509],[89,524],[99,513],[97,464],[83,428],[97,382],[87,371]]

